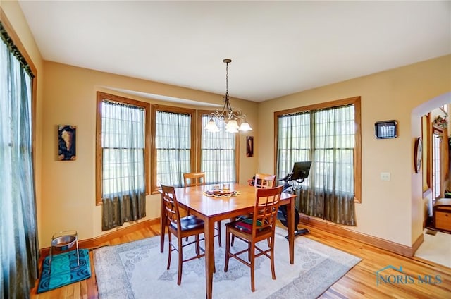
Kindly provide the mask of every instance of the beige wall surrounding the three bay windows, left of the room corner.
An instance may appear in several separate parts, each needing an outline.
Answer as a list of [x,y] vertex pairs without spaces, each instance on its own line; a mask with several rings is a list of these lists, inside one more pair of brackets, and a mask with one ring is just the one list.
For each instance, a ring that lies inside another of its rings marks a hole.
[[[81,239],[102,234],[101,206],[94,205],[95,193],[95,121],[96,92],[101,90],[123,95],[144,102],[187,106],[155,99],[144,99],[130,94],[121,94],[111,89],[134,90],[170,97],[181,97],[198,102],[214,99],[214,104],[223,104],[220,94],[209,94],[146,80],[101,73],[85,68],[75,68],[60,63],[45,62],[44,121],[42,133],[42,230],[39,235],[48,240],[55,231],[76,229]],[[231,100],[233,107],[240,107],[254,123],[257,132],[257,103]],[[208,109],[207,106],[189,106]],[[217,109],[217,108],[216,108]],[[56,126],[77,126],[76,161],[57,161]],[[240,135],[240,181],[252,176],[256,158],[245,157],[245,135]],[[250,172],[249,172],[250,171]],[[159,217],[159,195],[147,196],[147,217]]]

